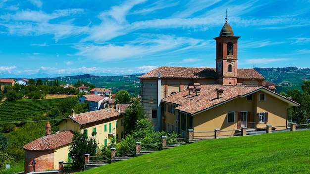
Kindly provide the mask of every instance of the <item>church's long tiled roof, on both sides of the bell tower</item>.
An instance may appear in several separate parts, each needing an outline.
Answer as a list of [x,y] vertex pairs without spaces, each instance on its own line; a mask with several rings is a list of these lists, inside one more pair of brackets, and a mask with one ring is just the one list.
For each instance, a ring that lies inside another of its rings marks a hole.
[[[192,67],[173,67],[161,66],[139,78],[205,78],[216,79],[217,75],[214,68],[192,68]],[[254,69],[238,69],[238,79],[265,79]]]

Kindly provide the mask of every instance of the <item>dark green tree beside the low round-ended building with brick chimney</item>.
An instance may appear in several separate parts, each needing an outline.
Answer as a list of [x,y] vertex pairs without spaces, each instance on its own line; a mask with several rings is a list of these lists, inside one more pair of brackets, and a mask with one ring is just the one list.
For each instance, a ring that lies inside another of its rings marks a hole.
[[87,137],[87,131],[74,132],[72,145],[69,147],[69,155],[72,158],[73,168],[83,169],[84,155],[96,155],[97,141],[94,137]]

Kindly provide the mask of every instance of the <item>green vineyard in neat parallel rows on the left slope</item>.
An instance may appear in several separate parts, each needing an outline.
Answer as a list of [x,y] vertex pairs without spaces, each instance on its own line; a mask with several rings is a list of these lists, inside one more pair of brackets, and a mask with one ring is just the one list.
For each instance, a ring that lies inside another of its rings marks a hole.
[[34,113],[46,113],[64,99],[65,98],[16,101],[5,100],[0,105],[0,122],[29,121],[34,116]]

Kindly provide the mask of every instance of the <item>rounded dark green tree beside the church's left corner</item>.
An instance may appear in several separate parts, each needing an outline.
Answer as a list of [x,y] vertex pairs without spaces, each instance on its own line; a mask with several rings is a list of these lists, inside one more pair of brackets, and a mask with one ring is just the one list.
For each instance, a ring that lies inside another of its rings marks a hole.
[[140,99],[133,99],[132,104],[126,108],[125,112],[124,130],[127,133],[131,133],[136,128],[137,120],[143,119],[145,115],[145,112],[143,111],[143,106],[140,103]]

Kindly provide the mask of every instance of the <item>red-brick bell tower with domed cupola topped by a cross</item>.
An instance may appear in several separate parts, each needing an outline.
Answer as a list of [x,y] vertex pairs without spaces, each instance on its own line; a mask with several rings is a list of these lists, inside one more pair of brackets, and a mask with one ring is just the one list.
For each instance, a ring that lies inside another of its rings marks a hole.
[[216,74],[217,83],[221,85],[236,85],[238,82],[238,39],[234,36],[231,26],[226,22],[216,41]]

